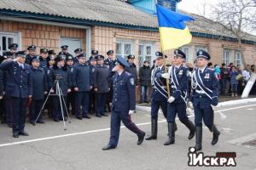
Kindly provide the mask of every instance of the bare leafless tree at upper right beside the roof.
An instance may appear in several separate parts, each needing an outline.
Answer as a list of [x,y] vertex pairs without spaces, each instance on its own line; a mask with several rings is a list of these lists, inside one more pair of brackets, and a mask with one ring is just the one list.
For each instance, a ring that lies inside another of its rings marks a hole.
[[212,19],[223,24],[237,39],[242,65],[245,68],[242,39],[247,35],[245,31],[256,31],[256,0],[225,0],[212,8]]

